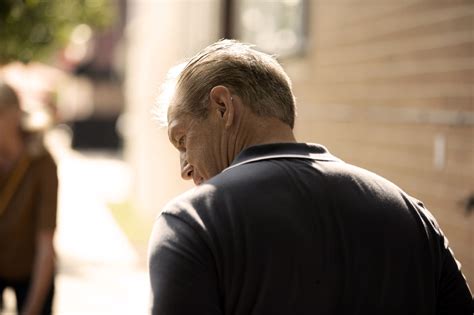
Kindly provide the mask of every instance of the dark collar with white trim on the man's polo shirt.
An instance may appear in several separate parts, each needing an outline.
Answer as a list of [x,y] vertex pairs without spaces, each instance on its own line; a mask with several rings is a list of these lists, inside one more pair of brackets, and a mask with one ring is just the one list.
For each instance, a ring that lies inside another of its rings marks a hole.
[[271,143],[256,145],[240,152],[225,171],[251,162],[271,159],[307,159],[316,161],[341,161],[320,144]]

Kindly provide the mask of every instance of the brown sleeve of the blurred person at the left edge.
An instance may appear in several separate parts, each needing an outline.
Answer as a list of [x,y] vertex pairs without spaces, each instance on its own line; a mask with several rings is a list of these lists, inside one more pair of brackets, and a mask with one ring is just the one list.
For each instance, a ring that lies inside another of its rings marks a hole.
[[58,206],[58,174],[56,163],[47,154],[38,165],[37,230],[54,230]]

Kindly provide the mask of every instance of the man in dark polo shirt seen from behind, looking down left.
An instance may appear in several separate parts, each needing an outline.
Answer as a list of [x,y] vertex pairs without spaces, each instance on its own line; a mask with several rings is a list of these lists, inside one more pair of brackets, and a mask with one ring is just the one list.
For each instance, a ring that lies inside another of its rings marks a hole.
[[290,80],[219,41],[179,74],[167,111],[181,175],[150,242],[153,314],[471,314],[423,204],[297,143]]

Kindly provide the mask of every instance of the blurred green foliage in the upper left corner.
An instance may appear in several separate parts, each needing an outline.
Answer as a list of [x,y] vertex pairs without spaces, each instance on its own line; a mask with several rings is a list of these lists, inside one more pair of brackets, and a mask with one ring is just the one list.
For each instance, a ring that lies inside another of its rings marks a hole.
[[110,24],[109,0],[0,0],[0,65],[42,60],[61,48],[79,24]]

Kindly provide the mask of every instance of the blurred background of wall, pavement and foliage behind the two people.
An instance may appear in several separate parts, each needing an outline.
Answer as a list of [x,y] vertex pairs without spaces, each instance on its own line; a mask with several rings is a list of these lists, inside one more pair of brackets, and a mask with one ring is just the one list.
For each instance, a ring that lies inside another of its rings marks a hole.
[[300,141],[424,201],[474,288],[472,0],[2,0],[0,76],[52,126],[56,314],[148,312],[154,217],[191,187],[151,112],[224,37],[277,55]]

